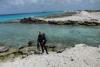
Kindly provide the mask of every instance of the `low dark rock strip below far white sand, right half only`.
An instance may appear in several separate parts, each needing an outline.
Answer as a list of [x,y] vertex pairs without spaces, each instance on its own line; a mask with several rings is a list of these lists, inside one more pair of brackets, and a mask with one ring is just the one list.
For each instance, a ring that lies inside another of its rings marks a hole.
[[96,21],[48,21],[48,24],[54,25],[85,25],[85,26],[98,26],[100,25],[99,22]]

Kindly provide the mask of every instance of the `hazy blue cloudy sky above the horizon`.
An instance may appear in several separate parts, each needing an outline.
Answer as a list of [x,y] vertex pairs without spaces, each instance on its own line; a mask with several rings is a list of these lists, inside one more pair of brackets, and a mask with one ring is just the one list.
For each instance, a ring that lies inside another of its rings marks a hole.
[[0,14],[100,9],[100,0],[0,0]]

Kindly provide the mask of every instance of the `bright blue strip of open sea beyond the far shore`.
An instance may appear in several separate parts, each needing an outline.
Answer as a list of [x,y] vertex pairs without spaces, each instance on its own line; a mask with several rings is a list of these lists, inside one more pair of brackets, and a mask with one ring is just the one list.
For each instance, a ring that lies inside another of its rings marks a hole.
[[51,14],[57,14],[57,13],[61,13],[61,12],[63,12],[63,11],[5,14],[5,15],[0,15],[0,21],[2,22],[2,21],[28,18],[28,17],[36,17],[36,16],[48,16]]

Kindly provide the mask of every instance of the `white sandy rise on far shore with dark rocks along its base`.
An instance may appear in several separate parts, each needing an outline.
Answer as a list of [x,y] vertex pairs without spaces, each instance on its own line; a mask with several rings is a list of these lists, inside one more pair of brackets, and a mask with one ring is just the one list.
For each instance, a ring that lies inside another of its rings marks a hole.
[[70,16],[46,18],[43,20],[47,21],[49,24],[58,25],[98,26],[100,25],[100,12],[81,11]]

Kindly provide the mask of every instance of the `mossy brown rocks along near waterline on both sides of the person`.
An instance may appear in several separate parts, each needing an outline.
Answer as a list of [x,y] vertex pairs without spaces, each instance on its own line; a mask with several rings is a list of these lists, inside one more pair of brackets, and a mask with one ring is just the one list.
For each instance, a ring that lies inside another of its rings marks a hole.
[[[46,46],[49,52],[62,53],[64,48],[58,49],[56,46]],[[41,51],[37,50],[34,42],[29,41],[26,46],[20,48],[10,48],[7,46],[0,46],[0,61],[14,60],[15,58],[26,58],[29,55],[41,55]]]

